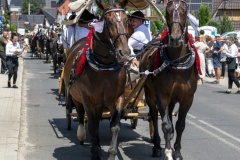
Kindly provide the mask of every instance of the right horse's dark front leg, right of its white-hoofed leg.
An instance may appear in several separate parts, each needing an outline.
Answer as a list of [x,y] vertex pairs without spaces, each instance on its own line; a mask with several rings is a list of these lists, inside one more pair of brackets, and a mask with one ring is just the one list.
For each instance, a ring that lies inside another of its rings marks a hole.
[[190,104],[187,104],[187,105],[180,104],[180,107],[179,107],[178,120],[176,122],[176,127],[175,127],[177,132],[177,138],[174,144],[174,149],[175,149],[174,160],[183,160],[183,157],[180,152],[181,138],[182,138],[182,133],[185,129],[186,116],[191,105],[192,105],[192,102],[190,102]]

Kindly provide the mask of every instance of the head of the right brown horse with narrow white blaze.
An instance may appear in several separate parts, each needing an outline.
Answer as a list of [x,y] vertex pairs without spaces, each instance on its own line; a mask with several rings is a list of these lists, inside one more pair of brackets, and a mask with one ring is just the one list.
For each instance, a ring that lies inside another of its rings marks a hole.
[[169,45],[182,46],[187,38],[187,4],[183,0],[170,0],[166,7]]

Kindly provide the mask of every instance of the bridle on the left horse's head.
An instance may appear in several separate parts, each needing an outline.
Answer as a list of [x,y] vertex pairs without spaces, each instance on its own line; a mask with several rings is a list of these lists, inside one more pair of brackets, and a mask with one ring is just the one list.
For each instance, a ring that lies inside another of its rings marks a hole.
[[[117,19],[117,36],[114,38],[111,36],[110,34],[110,29],[109,29],[109,25],[107,24],[107,22],[104,20],[104,26],[106,26],[107,30],[108,30],[108,34],[109,34],[109,42],[111,44],[111,48],[108,50],[108,52],[112,55],[114,55],[115,57],[120,56],[123,57],[123,54],[121,52],[121,50],[117,50],[116,48],[116,41],[118,40],[118,38],[121,38],[121,36],[126,36],[127,38],[129,37],[129,35],[126,33],[126,30],[124,28],[123,22],[121,21],[121,13],[124,12],[125,10],[122,8],[114,8],[114,9],[110,9],[107,10],[103,17],[106,16],[108,13],[114,13],[114,16]],[[101,42],[102,40],[100,39],[100,37],[96,34],[96,32],[94,32],[95,37]],[[103,43],[103,45],[105,45]],[[105,45],[106,46],[106,45]],[[108,48],[108,47],[106,47]]]

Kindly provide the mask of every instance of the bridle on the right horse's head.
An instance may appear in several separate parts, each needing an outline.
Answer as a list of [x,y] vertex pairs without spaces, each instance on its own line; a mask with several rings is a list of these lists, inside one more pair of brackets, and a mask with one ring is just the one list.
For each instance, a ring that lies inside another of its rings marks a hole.
[[[181,24],[181,18],[180,18],[180,14],[179,14],[179,7],[181,6],[180,5],[180,2],[183,2],[186,4],[186,2],[184,0],[179,0],[178,2],[174,1],[174,0],[170,0],[168,2],[168,4],[172,2],[173,3],[173,6],[174,6],[174,11],[173,11],[173,22],[169,24],[169,26],[167,27],[168,29],[168,43],[170,45],[170,41],[171,41],[171,28],[172,28],[172,25],[177,23],[179,24],[179,26],[181,27],[181,31],[182,31],[182,35],[180,36],[179,40],[178,40],[178,44],[179,46],[182,45],[184,43],[184,38],[185,38],[185,34],[186,34],[186,30],[187,30],[187,18],[186,18],[186,21],[185,23],[182,25]],[[187,12],[186,12],[187,13]],[[187,16],[187,15],[186,15]]]

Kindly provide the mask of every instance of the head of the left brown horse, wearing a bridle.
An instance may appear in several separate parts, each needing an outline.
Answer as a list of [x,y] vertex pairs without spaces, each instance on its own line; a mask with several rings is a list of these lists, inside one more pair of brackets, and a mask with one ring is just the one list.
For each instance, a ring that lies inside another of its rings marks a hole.
[[97,51],[100,48],[107,50],[107,52],[101,53],[101,55],[108,57],[108,59],[110,57],[118,62],[126,62],[130,55],[127,42],[133,31],[127,23],[128,16],[123,9],[127,5],[128,0],[119,0],[118,2],[106,4],[96,1],[98,7],[103,11],[100,20],[103,21],[104,25],[102,33],[95,32],[95,38],[98,37],[96,39],[102,43],[101,46],[95,46],[95,48],[97,48]]

